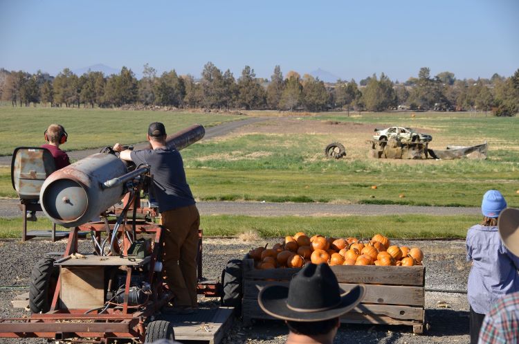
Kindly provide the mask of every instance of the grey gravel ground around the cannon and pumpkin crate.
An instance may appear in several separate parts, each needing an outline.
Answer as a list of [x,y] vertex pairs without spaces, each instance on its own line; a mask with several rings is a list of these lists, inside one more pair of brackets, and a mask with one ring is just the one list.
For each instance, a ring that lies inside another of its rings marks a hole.
[[[239,239],[204,239],[203,275],[219,280],[221,270],[230,259],[241,258],[252,247],[278,242],[276,239],[261,239],[256,242],[243,242]],[[448,291],[466,290],[466,280],[470,264],[465,261],[463,241],[395,241],[396,244],[419,246],[423,248],[426,266],[426,289]],[[33,264],[44,253],[60,252],[66,242],[31,240],[19,242],[5,240],[0,242],[0,258],[6,266],[0,269],[0,287],[27,286]],[[80,242],[80,251],[91,251],[89,241]],[[14,257],[14,258],[13,258]],[[28,316],[23,309],[13,309],[10,300],[18,293],[0,289],[0,317]],[[215,299],[201,297],[201,306],[215,305]],[[468,343],[468,303],[464,293],[444,293],[426,291],[426,314],[430,329],[424,336],[412,334],[410,326],[383,325],[342,325],[335,343]],[[280,344],[286,341],[287,330],[280,322],[257,321],[253,327],[243,327],[237,320],[224,338],[224,344]],[[0,338],[0,343],[46,343],[37,339]]]

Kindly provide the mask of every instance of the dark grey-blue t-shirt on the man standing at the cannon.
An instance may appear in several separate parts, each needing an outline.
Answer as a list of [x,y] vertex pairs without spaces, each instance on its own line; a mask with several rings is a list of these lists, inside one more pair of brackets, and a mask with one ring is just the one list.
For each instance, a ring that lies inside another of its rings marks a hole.
[[185,180],[184,164],[179,151],[167,148],[132,151],[131,161],[151,167],[153,193],[158,201],[159,212],[192,206],[195,203]]

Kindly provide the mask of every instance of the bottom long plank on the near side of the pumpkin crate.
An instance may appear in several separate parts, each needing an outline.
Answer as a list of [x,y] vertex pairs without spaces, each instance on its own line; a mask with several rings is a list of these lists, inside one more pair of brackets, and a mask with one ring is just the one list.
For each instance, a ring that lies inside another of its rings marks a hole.
[[[260,308],[257,300],[244,299],[242,302],[242,309],[244,318],[260,318],[271,319],[271,316],[265,314]],[[367,314],[376,319],[379,316],[387,316],[394,320],[416,320],[421,323],[424,318],[424,309],[421,307],[408,306],[394,306],[394,305],[372,305],[361,303],[351,311],[349,314]]]

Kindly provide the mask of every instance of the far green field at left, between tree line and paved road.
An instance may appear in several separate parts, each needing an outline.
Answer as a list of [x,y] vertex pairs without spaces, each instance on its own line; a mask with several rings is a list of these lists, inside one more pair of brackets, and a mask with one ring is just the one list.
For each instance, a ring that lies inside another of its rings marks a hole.
[[67,109],[50,107],[0,107],[0,155],[10,155],[15,147],[39,146],[51,123],[63,125],[69,134],[64,150],[84,150],[120,143],[146,141],[149,123],[163,122],[173,134],[194,123],[211,127],[244,116],[192,114],[171,111],[122,111],[115,109]]

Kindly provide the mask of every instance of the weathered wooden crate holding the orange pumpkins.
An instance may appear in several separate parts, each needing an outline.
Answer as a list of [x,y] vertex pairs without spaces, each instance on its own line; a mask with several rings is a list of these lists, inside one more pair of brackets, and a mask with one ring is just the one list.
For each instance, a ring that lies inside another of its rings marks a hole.
[[[289,285],[300,269],[254,268],[254,260],[243,261],[242,317],[244,324],[252,319],[273,319],[262,311],[257,294],[271,284]],[[330,266],[345,291],[355,284],[365,284],[363,301],[340,318],[341,323],[412,325],[415,334],[424,332],[425,267],[424,266]]]

